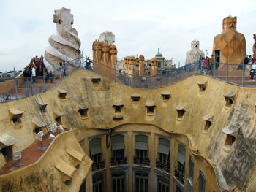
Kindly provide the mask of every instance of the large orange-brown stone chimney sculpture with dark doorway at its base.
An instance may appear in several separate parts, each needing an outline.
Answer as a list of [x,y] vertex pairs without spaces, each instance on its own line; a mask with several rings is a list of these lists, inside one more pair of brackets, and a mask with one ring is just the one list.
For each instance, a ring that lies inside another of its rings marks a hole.
[[[229,64],[242,64],[243,56],[246,55],[246,41],[244,34],[236,31],[236,17],[229,15],[222,21],[222,33],[214,37],[213,53],[215,61]],[[224,67],[220,64],[219,69]],[[230,68],[237,69],[237,66]]]

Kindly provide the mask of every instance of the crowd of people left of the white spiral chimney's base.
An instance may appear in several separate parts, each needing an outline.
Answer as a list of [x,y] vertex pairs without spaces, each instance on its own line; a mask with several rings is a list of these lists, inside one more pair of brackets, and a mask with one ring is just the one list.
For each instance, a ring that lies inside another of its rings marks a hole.
[[42,76],[45,71],[44,57],[41,55],[40,58],[35,56],[31,58],[30,63],[24,68],[23,76],[31,77],[31,82],[35,82],[36,76]]

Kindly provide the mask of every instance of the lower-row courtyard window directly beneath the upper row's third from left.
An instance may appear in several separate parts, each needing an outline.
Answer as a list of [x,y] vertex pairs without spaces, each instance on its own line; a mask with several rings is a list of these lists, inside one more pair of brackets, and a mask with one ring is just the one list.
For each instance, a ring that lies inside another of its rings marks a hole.
[[135,192],[148,192],[148,174],[144,172],[135,173]]

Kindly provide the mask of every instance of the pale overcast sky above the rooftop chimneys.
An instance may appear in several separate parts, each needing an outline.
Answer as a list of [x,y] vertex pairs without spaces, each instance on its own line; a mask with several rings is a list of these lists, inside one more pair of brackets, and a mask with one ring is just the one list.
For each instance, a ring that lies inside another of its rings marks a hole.
[[48,38],[56,33],[53,13],[71,9],[83,55],[92,58],[91,45],[103,31],[116,35],[118,59],[156,55],[184,65],[194,39],[211,56],[213,40],[222,33],[222,20],[237,17],[237,31],[246,38],[252,55],[256,33],[255,0],[0,0],[0,71],[23,69],[35,55],[44,55]]

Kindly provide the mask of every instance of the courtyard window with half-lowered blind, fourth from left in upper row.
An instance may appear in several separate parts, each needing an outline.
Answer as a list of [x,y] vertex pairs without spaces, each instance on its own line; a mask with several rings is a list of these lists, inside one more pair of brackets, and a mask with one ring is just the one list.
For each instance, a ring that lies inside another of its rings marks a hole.
[[170,141],[159,138],[157,168],[170,172]]

